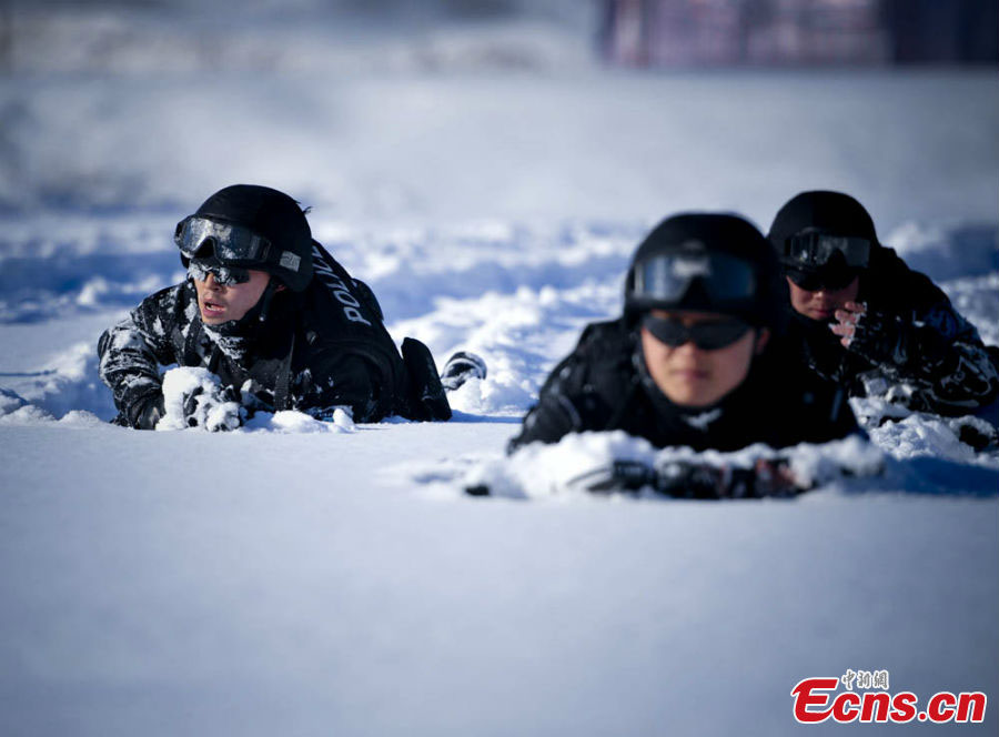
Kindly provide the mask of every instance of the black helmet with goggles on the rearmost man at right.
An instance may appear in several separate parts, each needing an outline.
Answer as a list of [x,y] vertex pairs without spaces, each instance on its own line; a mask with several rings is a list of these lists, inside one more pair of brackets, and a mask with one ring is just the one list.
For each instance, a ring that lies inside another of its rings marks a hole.
[[818,276],[830,285],[852,281],[879,246],[867,210],[842,192],[795,195],[777,212],[767,238],[793,280]]

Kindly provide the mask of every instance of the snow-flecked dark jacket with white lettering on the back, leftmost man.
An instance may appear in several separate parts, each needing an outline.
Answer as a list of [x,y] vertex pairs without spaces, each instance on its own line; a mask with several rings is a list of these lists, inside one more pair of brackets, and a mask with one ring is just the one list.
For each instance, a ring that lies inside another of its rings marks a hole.
[[250,408],[293,408],[329,418],[335,408],[349,407],[356,422],[392,414],[431,418],[417,406],[421,387],[414,386],[370,290],[322,246],[316,244],[313,256],[310,285],[302,293],[276,293],[264,322],[258,304],[241,321],[205,325],[186,280],[147,297],[101,335],[100,374],[114,394],[118,422],[155,425],[155,407],[162,412],[160,367],[173,364],[206,367],[233,396],[242,393]]

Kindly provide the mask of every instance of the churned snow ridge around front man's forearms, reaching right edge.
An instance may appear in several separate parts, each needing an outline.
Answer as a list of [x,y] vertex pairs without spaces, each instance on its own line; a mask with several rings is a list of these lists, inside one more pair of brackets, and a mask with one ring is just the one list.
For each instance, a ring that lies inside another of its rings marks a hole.
[[[728,473],[758,468],[761,461],[786,463],[790,476],[800,488],[809,492],[809,497],[829,493],[999,496],[999,460],[996,457],[983,460],[968,446],[942,455],[912,450],[914,446],[926,448],[936,444],[951,448],[953,435],[947,435],[941,430],[945,427],[938,423],[934,427],[935,434],[926,432],[926,425],[921,423],[910,423],[899,431],[885,431],[891,442],[896,442],[895,435],[906,433],[922,440],[921,444],[899,443],[900,447],[892,448],[896,451],[894,456],[886,454],[878,444],[856,435],[777,451],[757,444],[735,453],[696,453],[687,447],[657,450],[643,438],[615,431],[571,434],[548,445],[532,443],[508,457],[466,455],[433,464],[405,464],[396,471],[420,484],[423,494],[440,499],[471,495],[566,503],[593,498],[594,491],[598,492],[597,496],[615,501],[670,499],[650,485],[628,491],[617,484],[605,488],[597,484],[609,479],[612,468],[622,463],[659,470],[659,473],[668,473],[677,465],[707,466]],[[891,447],[891,443],[882,437],[881,446]]]

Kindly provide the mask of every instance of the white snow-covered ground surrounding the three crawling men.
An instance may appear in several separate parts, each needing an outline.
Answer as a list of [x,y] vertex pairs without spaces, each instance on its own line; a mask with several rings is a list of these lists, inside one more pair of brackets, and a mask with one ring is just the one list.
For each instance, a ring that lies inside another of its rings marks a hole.
[[[680,209],[844,189],[999,343],[993,74],[8,78],[0,119],[4,734],[781,735],[849,668],[999,696],[999,458],[945,423],[796,501],[457,491]],[[486,357],[455,421],[103,422],[97,337],[238,181],[315,205],[397,340]]]

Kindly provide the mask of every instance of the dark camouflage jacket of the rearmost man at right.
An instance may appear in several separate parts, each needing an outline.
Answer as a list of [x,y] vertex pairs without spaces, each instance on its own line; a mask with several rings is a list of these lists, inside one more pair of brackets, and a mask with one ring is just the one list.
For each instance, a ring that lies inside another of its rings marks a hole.
[[860,276],[858,301],[871,342],[845,349],[829,325],[791,311],[788,339],[801,360],[850,396],[888,395],[911,410],[973,412],[999,395],[999,371],[975,326],[930,279],[879,246]]

